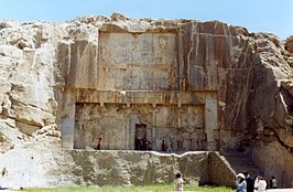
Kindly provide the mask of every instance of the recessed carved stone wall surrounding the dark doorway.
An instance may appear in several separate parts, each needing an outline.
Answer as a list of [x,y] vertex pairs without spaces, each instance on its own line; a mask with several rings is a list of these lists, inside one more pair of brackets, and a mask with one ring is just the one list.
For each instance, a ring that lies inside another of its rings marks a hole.
[[[100,135],[102,149],[134,149],[135,125],[142,124],[146,126],[146,138],[152,141],[152,150],[161,150],[162,139],[171,140],[175,151],[206,149],[206,137],[202,130],[203,107],[199,106],[182,107],[181,111],[176,111],[176,107],[162,106],[153,109],[152,106],[143,105],[100,107],[95,104],[82,104],[76,107],[77,149],[86,146],[96,148]],[[177,116],[182,116],[181,121],[174,120]],[[178,131],[177,127],[182,127],[183,130]]]

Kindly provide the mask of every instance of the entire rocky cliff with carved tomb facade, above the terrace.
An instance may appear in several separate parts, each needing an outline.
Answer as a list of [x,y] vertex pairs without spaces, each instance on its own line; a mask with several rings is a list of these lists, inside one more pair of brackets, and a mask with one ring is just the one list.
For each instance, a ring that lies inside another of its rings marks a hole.
[[[173,146],[181,150],[236,150],[245,143],[265,177],[291,184],[290,39],[285,46],[272,34],[218,21],[120,14],[65,23],[2,21],[0,36],[1,156],[37,139],[53,148],[90,146],[96,138],[76,135],[83,124],[90,135],[109,127],[109,149],[134,149],[134,136],[126,134],[123,141],[118,125],[134,135],[132,124],[143,122],[153,149],[177,132]],[[186,142],[195,138],[197,145]]]

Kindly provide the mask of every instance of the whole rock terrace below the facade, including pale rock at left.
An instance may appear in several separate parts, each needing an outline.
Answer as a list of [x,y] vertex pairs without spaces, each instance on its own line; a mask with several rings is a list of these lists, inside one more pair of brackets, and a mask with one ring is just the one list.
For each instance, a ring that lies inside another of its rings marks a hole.
[[[2,154],[0,160],[0,169],[8,171],[1,186],[9,188],[172,183],[174,173],[178,171],[186,182],[196,180],[200,184],[232,185],[234,182],[229,181],[235,179],[232,170],[214,152],[167,154],[154,151],[62,150],[58,140],[52,137],[25,142]],[[210,164],[218,167],[209,170]],[[226,175],[226,182],[217,180],[221,174]]]

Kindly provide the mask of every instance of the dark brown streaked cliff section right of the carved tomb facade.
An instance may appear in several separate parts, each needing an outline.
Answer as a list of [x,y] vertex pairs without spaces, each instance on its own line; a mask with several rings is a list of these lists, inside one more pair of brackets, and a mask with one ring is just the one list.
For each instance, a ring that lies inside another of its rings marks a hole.
[[[276,175],[290,185],[290,173],[280,169],[292,167],[289,41],[285,51],[272,34],[248,33],[218,22],[183,29],[189,32],[182,35],[180,50],[185,73],[193,83],[218,90],[220,148],[245,143],[265,177]],[[198,79],[203,73],[205,78]]]

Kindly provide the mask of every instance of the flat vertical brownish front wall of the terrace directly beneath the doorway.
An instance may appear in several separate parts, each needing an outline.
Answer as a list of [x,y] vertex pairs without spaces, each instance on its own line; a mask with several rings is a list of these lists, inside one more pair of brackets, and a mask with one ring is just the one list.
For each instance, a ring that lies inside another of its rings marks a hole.
[[181,157],[138,151],[72,152],[76,163],[73,171],[80,177],[79,182],[91,184],[123,184],[127,180],[132,184],[171,183],[178,171],[186,178],[198,177],[200,183],[206,183],[209,181],[207,156],[206,152]]

